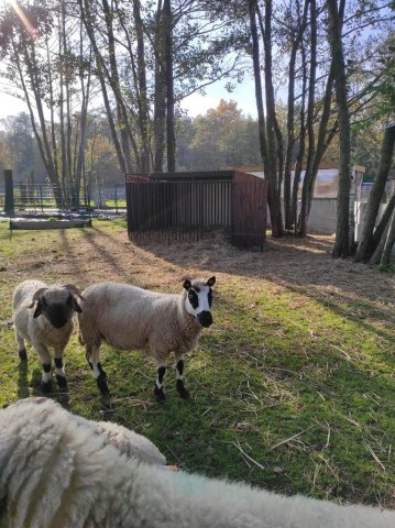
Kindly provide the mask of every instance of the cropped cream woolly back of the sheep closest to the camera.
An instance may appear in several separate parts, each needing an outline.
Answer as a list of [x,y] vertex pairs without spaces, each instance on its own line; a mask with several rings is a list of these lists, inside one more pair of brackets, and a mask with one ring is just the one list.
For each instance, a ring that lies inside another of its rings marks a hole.
[[46,398],[0,410],[1,528],[394,528],[395,512],[165,471],[144,437]]

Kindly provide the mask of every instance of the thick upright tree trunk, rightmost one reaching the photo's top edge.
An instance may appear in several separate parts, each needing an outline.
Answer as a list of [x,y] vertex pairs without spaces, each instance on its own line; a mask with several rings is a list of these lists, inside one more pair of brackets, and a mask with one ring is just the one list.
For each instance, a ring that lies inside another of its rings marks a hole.
[[327,0],[328,36],[333,59],[334,92],[339,120],[340,168],[336,240],[333,257],[345,257],[350,254],[350,116],[347,99],[347,77],[341,40],[341,19],[337,0]]

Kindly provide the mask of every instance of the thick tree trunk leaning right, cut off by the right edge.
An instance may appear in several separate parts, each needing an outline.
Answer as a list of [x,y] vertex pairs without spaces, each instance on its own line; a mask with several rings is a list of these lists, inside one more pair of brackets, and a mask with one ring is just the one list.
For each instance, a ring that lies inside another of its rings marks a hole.
[[[395,145],[395,124],[391,124],[385,129],[384,139],[382,142],[382,150],[380,156],[380,164],[377,175],[374,180],[373,188],[369,196],[364,227],[361,241],[358,244],[355,261],[367,261],[375,250],[374,242],[377,244],[377,237],[373,241],[373,230],[377,220],[380,204],[385,190],[385,184],[388,179],[392,158],[394,155]],[[389,205],[389,204],[388,204]],[[387,206],[388,207],[388,206]]]

